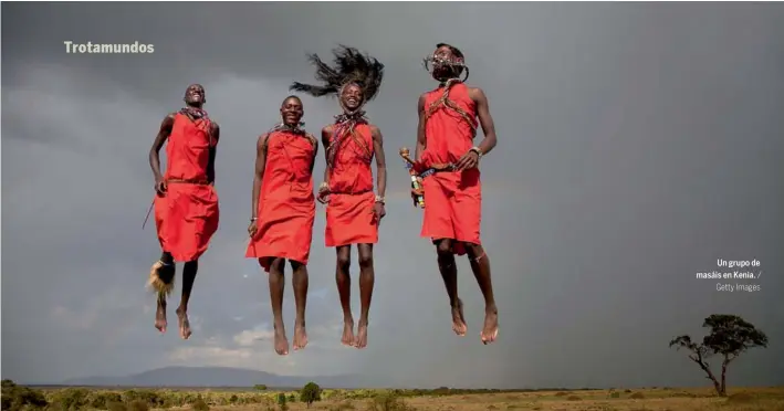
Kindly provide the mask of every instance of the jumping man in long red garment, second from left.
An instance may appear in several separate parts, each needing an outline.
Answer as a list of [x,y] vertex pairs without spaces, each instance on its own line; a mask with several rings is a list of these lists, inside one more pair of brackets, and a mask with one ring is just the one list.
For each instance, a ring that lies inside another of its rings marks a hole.
[[281,105],[283,123],[259,137],[247,257],[258,259],[269,273],[270,302],[274,317],[275,352],[289,354],[283,325],[285,262],[291,265],[296,319],[294,349],[305,348],[305,303],[307,259],[311,253],[316,203],[313,194],[313,166],[318,141],[300,123],[302,101],[289,96]]

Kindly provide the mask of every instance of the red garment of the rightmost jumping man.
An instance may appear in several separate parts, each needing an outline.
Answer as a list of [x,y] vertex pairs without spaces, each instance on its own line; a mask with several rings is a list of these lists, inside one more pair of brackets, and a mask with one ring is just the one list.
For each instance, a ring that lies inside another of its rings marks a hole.
[[[443,95],[442,87],[428,92],[425,110]],[[473,130],[477,127],[477,107],[462,83],[452,85],[449,99],[470,117],[469,125],[459,113],[438,105],[425,125],[427,148],[421,155],[421,166],[454,164],[473,147]],[[471,127],[473,126],[473,128]],[[478,168],[463,171],[439,171],[422,180],[425,202],[421,236],[432,240],[452,239],[458,242],[481,244],[479,226],[482,219],[482,192]],[[456,244],[454,253],[464,254],[462,244]]]

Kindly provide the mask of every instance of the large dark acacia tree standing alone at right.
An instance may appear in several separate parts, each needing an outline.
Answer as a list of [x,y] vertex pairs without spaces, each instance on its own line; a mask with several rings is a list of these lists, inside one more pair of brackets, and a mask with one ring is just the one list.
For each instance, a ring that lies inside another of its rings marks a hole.
[[[745,319],[729,314],[713,314],[705,318],[702,327],[710,328],[710,334],[702,337],[702,342],[694,342],[688,335],[673,338],[670,347],[686,348],[689,359],[694,361],[713,382],[720,397],[726,396],[726,367],[738,356],[750,348],[767,347],[767,336]],[[715,378],[708,359],[721,357],[721,381]]]

